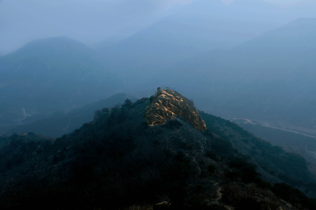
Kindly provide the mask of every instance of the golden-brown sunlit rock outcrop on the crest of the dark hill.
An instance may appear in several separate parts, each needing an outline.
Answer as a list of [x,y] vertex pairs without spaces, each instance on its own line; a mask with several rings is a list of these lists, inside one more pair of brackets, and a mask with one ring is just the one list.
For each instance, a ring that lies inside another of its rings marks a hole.
[[150,105],[146,108],[145,119],[149,125],[162,125],[168,119],[179,116],[189,122],[197,130],[206,130],[205,122],[194,105],[184,96],[170,89],[157,88],[150,97]]

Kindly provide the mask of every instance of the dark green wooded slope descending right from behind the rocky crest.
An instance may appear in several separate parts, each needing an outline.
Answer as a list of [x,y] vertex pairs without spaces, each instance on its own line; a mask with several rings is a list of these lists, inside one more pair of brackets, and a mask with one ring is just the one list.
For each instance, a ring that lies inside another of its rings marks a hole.
[[[253,134],[248,133],[237,124],[228,120],[204,112],[201,112],[201,116],[206,122],[208,129],[213,133],[231,142],[233,147],[238,148],[240,153],[254,158],[259,167],[263,169],[263,176],[267,176],[266,179],[269,179],[270,182],[276,182],[279,181],[278,179],[281,179],[295,185],[303,180],[314,180],[307,169],[306,161],[303,157],[286,153],[280,147],[272,146],[269,142],[256,138]],[[301,169],[298,170],[297,167]],[[275,179],[275,177],[278,179]]]

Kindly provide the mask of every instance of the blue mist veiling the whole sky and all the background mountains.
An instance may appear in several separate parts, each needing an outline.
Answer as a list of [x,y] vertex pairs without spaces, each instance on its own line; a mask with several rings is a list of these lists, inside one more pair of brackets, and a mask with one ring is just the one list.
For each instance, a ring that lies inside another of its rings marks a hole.
[[309,0],[1,1],[3,131],[117,93],[149,96],[155,86],[228,119],[301,127],[316,119],[315,8]]

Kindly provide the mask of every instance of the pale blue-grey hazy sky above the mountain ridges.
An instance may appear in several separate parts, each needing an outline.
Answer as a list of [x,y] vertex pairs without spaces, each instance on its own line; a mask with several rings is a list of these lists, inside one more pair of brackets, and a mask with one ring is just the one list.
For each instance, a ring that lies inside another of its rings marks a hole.
[[[0,0],[0,55],[37,38],[66,35],[86,44],[193,0]],[[210,0],[216,1],[216,0]],[[282,4],[299,0],[266,0]],[[230,3],[232,0],[222,0]]]

